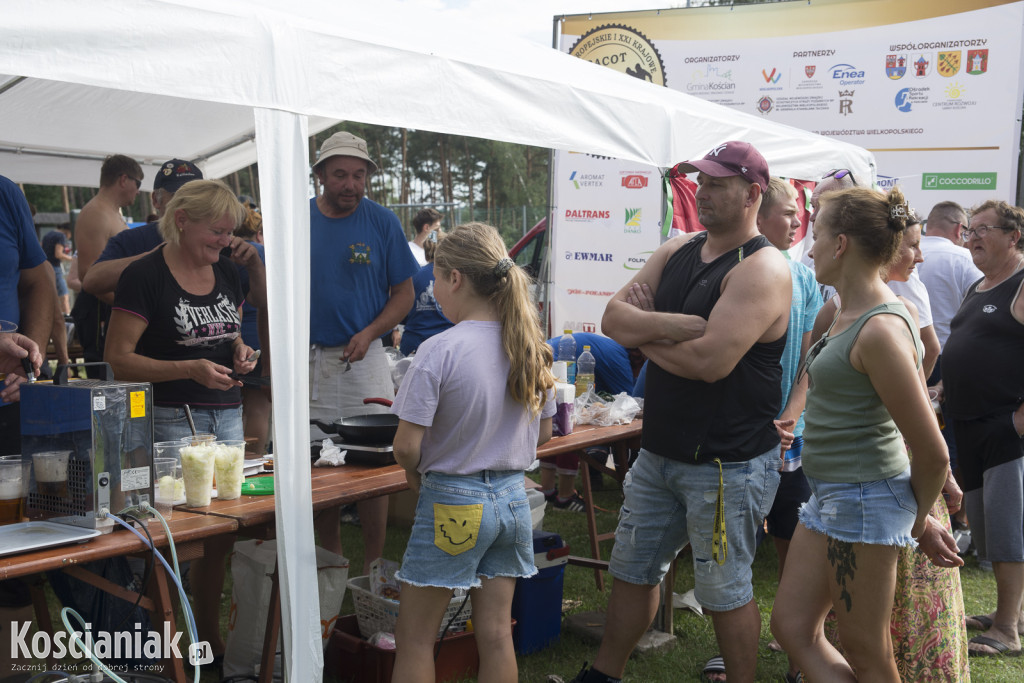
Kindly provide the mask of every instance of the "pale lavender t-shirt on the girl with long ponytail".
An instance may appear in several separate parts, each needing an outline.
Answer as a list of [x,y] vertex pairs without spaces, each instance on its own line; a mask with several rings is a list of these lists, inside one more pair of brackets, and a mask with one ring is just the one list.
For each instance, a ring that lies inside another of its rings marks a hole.
[[391,412],[427,428],[422,472],[524,470],[537,459],[541,418],[555,414],[549,392],[530,419],[508,392],[501,323],[463,321],[420,344]]

